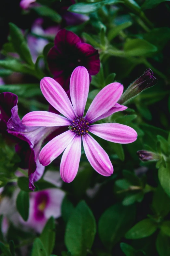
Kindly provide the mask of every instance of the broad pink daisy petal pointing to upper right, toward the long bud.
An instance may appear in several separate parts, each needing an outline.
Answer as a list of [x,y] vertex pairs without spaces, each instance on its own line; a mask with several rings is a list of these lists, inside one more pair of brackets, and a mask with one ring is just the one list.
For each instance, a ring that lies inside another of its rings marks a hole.
[[118,82],[105,86],[92,101],[87,111],[86,119],[92,123],[93,120],[105,114],[119,100],[122,92],[123,85]]

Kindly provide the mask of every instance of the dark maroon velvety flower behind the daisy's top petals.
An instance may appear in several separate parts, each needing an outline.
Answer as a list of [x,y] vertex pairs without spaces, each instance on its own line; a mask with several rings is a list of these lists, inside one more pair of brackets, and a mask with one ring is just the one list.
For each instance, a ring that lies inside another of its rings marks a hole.
[[57,33],[47,60],[55,81],[62,85],[65,91],[69,90],[70,76],[77,66],[84,66],[90,78],[100,70],[98,50],[82,43],[76,34],[66,29]]

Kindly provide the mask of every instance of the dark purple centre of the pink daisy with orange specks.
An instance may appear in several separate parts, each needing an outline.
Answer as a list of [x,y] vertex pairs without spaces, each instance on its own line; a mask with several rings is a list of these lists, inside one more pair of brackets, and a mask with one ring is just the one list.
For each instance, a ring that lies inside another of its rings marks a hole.
[[84,117],[77,117],[71,122],[71,131],[75,132],[77,136],[84,136],[88,133],[89,122]]

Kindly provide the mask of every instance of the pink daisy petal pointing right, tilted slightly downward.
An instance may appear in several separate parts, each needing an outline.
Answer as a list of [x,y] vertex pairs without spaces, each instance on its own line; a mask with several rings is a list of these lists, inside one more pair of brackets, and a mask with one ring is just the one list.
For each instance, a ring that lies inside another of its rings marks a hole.
[[137,139],[136,131],[124,124],[101,123],[89,127],[89,131],[111,142],[127,144]]

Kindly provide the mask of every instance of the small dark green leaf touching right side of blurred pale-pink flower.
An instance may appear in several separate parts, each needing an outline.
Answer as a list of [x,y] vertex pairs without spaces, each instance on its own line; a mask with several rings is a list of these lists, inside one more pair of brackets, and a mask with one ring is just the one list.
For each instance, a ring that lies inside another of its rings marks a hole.
[[61,206],[61,212],[62,212],[62,217],[65,223],[67,223],[67,221],[69,220],[73,210],[74,210],[73,204],[70,202],[67,196],[64,196],[62,206]]

